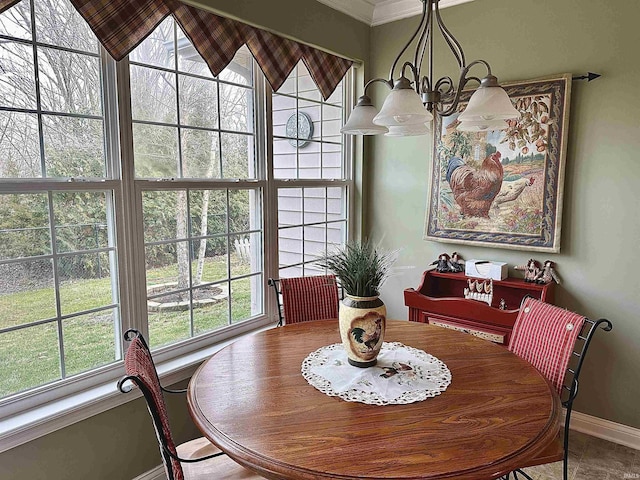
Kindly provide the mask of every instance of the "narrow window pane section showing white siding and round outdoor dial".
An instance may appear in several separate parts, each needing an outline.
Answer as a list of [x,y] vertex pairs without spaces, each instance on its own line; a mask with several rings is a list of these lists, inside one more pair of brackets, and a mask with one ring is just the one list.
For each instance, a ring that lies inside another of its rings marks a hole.
[[300,63],[272,103],[279,276],[321,275],[318,258],[347,238],[352,184],[340,134],[343,89],[322,100]]

